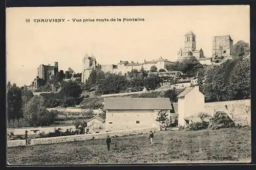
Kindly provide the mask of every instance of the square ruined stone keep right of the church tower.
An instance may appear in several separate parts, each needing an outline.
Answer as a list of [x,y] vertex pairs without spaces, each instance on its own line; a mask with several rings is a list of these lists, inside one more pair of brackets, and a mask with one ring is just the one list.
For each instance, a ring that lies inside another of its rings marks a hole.
[[230,57],[232,48],[233,40],[230,35],[212,38],[212,58]]

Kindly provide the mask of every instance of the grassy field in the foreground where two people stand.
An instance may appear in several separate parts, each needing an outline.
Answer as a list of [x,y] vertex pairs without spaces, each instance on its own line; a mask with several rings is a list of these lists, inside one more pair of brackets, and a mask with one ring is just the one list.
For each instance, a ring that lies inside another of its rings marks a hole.
[[245,161],[251,158],[250,128],[161,131],[155,145],[148,135],[112,137],[111,151],[105,139],[8,148],[13,165],[98,163],[200,163]]

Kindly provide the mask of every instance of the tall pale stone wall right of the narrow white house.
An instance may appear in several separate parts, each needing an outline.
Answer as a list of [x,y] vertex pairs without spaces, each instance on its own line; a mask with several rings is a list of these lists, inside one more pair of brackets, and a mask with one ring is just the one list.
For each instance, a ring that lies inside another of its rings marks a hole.
[[251,100],[237,100],[224,102],[205,103],[205,112],[210,115],[216,111],[223,111],[234,120],[242,125],[251,125]]

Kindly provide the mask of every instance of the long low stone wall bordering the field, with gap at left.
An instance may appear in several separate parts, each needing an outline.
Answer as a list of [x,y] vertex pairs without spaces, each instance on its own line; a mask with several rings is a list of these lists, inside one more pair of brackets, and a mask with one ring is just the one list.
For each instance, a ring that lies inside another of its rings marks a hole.
[[[144,128],[144,129],[136,129],[136,130],[130,130],[130,131],[116,131],[116,132],[103,132],[103,133],[85,134],[85,135],[37,138],[37,139],[31,139],[31,145],[102,139],[102,138],[106,138],[106,135],[110,135],[111,137],[114,137],[114,136],[117,137],[117,136],[127,136],[127,135],[149,134],[151,130],[159,131],[160,129]],[[17,147],[19,145],[26,145],[26,140],[8,140],[7,141],[7,147]]]

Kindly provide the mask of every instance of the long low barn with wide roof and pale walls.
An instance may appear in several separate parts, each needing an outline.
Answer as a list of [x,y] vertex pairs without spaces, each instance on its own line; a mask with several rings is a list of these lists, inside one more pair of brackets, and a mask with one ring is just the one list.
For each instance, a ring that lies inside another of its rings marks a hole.
[[159,111],[172,109],[168,98],[104,98],[106,131],[160,128]]

